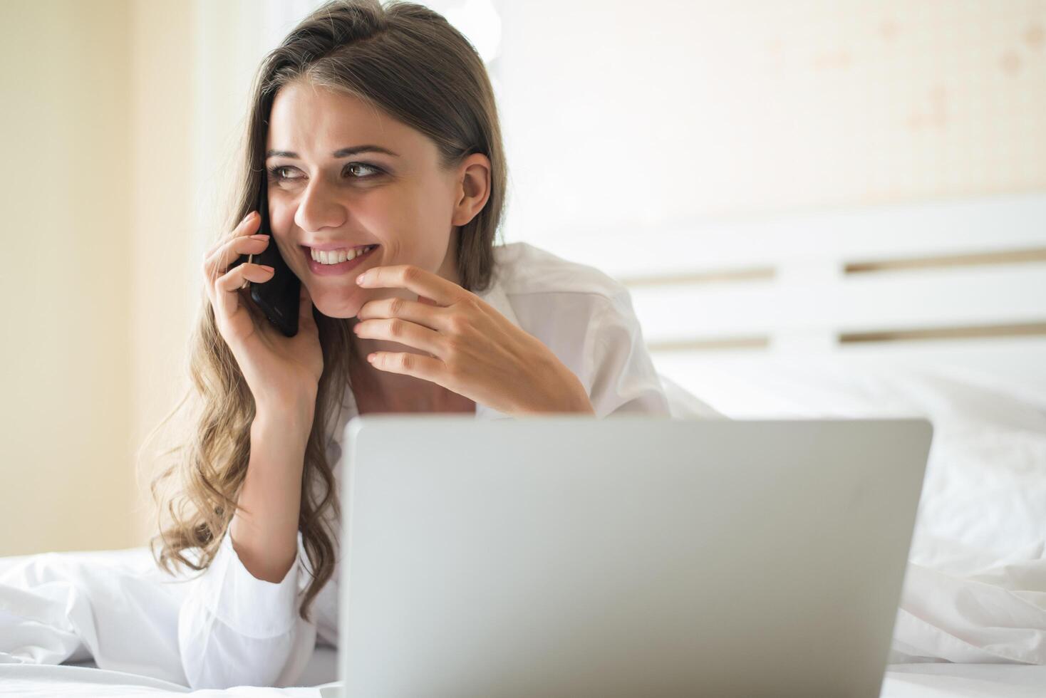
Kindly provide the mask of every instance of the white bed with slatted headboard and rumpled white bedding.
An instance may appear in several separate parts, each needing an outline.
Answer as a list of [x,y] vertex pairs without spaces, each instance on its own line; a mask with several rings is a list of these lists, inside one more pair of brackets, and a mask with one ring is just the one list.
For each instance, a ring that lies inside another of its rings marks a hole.
[[[546,247],[630,287],[674,417],[934,422],[882,696],[1046,696],[1046,196],[634,234]],[[109,596],[12,596],[29,564]],[[189,692],[149,656],[98,669],[74,647],[69,618],[114,631],[107,612],[133,613],[153,574],[144,548],[0,558],[0,629],[22,613],[32,648],[0,652],[0,695]],[[317,647],[296,688],[196,693],[319,696],[335,659]]]

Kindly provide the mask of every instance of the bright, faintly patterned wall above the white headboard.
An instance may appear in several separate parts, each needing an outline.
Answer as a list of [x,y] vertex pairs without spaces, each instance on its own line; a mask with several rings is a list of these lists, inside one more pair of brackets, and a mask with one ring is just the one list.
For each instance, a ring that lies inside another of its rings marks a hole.
[[502,3],[508,239],[1046,190],[1046,0],[631,5]]

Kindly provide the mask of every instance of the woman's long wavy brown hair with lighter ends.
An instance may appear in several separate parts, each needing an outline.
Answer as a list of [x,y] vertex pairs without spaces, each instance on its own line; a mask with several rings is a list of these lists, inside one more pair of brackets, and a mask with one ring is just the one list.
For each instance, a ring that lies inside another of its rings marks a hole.
[[[487,288],[506,178],[494,91],[469,41],[442,16],[414,3],[327,2],[265,57],[254,79],[242,143],[235,178],[238,194],[225,229],[231,231],[256,204],[266,176],[266,130],[273,99],[281,86],[298,79],[344,90],[427,135],[438,146],[445,168],[474,153],[490,158],[490,197],[460,227],[456,250],[461,285],[476,293]],[[223,237],[229,239],[231,232]],[[327,318],[315,307],[313,315],[323,373],[305,446],[298,520],[312,572],[299,610],[305,621],[338,559],[335,527],[341,512],[325,450],[344,391],[350,388],[351,352],[347,320]],[[202,572],[213,560],[237,509],[250,456],[254,400],[218,331],[205,294],[190,340],[185,395],[146,438],[153,440],[165,426],[180,427],[173,432],[174,445],[158,453],[159,467],[150,485],[159,524],[150,548],[158,565],[172,575],[184,567]]]

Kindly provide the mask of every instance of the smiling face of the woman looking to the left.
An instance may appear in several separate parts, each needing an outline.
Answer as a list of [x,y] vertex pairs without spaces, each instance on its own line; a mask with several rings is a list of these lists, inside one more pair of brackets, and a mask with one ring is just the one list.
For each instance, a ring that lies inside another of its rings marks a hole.
[[[273,101],[266,168],[273,239],[323,315],[355,318],[374,298],[416,298],[358,286],[372,266],[414,264],[458,282],[464,168],[440,169],[436,144],[420,132],[357,97],[296,82]],[[329,263],[372,245],[359,259]],[[318,249],[325,258],[314,259]]]

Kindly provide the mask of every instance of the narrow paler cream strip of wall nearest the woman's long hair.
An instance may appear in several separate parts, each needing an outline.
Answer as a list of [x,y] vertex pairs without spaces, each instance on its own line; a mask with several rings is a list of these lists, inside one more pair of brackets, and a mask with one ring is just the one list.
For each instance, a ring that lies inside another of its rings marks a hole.
[[[130,50],[132,139],[135,172],[128,204],[130,269],[132,448],[170,410],[185,386],[186,346],[197,311],[200,237],[194,225],[192,172],[194,5],[133,0]],[[147,478],[137,483],[137,463],[121,476],[132,488],[128,512],[131,544],[153,533]],[[149,466],[146,461],[144,466]]]

